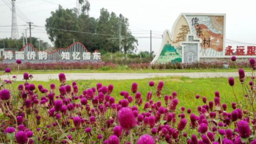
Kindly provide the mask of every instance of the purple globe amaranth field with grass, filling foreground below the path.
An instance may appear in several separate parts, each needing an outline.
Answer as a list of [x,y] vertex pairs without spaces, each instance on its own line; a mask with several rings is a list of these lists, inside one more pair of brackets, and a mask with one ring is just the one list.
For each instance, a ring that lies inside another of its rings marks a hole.
[[[17,67],[21,61],[17,61]],[[144,80],[1,80],[0,142],[256,144],[252,75]]]

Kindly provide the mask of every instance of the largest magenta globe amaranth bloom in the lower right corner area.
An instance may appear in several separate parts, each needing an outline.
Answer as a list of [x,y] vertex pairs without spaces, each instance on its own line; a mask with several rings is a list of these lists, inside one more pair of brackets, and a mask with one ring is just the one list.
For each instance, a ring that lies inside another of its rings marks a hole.
[[238,133],[242,138],[248,138],[251,135],[251,129],[248,123],[244,120],[240,120],[237,124]]

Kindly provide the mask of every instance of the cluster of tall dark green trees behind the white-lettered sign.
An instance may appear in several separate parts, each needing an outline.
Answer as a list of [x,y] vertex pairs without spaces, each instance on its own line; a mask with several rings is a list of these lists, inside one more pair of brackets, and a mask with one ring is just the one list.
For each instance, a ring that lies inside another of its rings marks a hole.
[[119,51],[119,23],[121,29],[122,52],[137,51],[138,41],[129,30],[129,20],[122,14],[118,16],[107,9],[100,10],[99,18],[89,15],[90,4],[80,0],[82,12],[77,15],[77,9],[59,8],[46,19],[46,31],[55,47],[67,47],[75,41],[82,42],[91,52],[98,49],[103,52]]

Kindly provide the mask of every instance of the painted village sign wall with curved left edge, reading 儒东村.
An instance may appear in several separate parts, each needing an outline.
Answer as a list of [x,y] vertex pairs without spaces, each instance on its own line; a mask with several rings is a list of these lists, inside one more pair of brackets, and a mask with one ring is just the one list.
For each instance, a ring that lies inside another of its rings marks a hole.
[[[163,32],[161,47],[152,63],[182,62],[184,55],[181,45],[183,42],[189,42],[188,35],[193,35],[194,39],[200,40],[199,53],[193,55],[224,56],[225,18],[225,14],[181,14],[175,21],[172,31]],[[185,49],[189,47],[184,45]]]

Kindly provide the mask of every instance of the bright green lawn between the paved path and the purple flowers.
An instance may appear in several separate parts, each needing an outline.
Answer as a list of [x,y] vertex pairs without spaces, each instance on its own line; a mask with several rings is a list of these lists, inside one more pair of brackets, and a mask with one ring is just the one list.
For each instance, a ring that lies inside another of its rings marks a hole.
[[[149,87],[148,82],[154,81],[155,87]],[[228,105],[228,111],[231,111],[231,103],[236,102],[232,88],[228,84],[228,78],[185,78],[185,77],[165,77],[165,78],[151,78],[151,79],[142,79],[142,80],[79,80],[77,82],[77,86],[79,87],[79,93],[82,93],[84,89],[89,87],[96,87],[97,83],[102,83],[105,86],[109,84],[114,85],[114,91],[111,96],[113,96],[116,100],[123,99],[122,96],[119,95],[120,91],[128,91],[130,95],[131,93],[131,84],[133,82],[138,83],[138,91],[142,93],[143,105],[146,100],[146,93],[148,91],[153,92],[153,98],[155,94],[155,89],[159,81],[164,82],[164,87],[162,90],[162,98],[155,99],[155,102],[158,100],[162,101],[164,104],[163,96],[171,95],[172,91],[177,92],[177,98],[179,100],[178,108],[181,106],[185,106],[186,109],[190,108],[192,112],[196,112],[198,105],[203,105],[201,98],[204,96],[207,98],[207,102],[210,100],[213,101],[214,92],[220,92],[221,103],[226,103]],[[242,100],[244,98],[242,86],[239,82],[239,78],[235,78],[235,86],[234,91],[238,97],[238,100]],[[249,82],[247,80],[246,82]],[[18,84],[24,82],[17,82],[15,87]],[[31,83],[31,82],[30,82]],[[49,89],[49,85],[51,83],[56,84],[56,93],[58,93],[58,86],[60,85],[59,81],[53,80],[51,82],[32,82],[37,87],[39,84],[42,84],[45,88]],[[72,85],[71,81],[68,81],[67,84]],[[41,95],[41,94],[40,94]],[[196,99],[195,96],[200,95],[200,99]],[[143,106],[141,106],[143,107]]]

